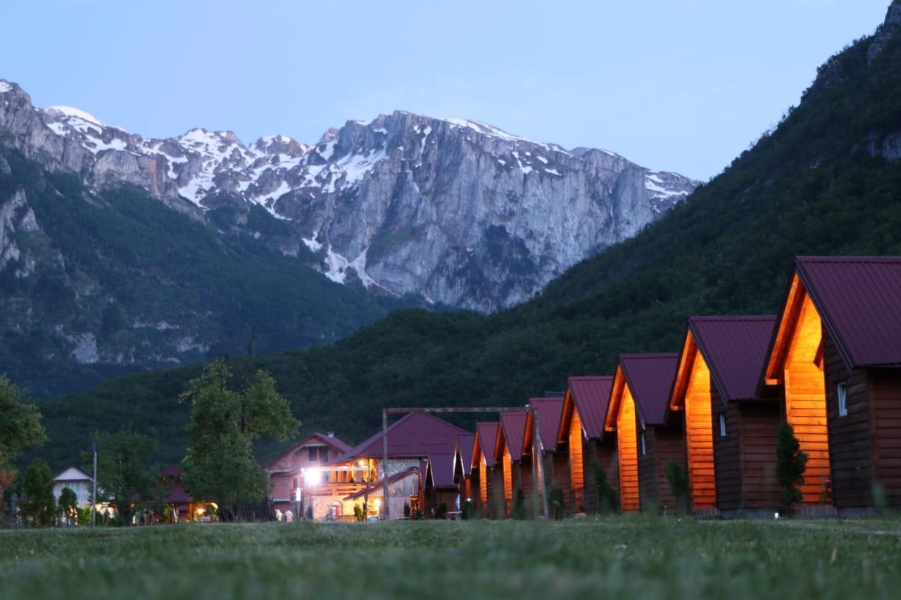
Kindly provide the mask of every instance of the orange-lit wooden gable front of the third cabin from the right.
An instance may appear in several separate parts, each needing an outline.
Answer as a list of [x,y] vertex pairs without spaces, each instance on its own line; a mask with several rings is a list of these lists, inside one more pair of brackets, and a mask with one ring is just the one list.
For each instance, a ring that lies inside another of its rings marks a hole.
[[[613,413],[605,423],[607,431],[616,430],[616,450],[619,457],[620,508],[623,513],[641,507],[638,486],[638,435],[635,421],[635,401],[632,391],[617,369],[614,380]],[[615,425],[614,425],[615,423]]]

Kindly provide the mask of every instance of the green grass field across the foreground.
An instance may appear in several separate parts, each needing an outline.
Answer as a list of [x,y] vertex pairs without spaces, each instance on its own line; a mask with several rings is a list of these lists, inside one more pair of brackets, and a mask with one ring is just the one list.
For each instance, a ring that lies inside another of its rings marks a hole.
[[203,524],[0,532],[10,598],[901,595],[901,521]]

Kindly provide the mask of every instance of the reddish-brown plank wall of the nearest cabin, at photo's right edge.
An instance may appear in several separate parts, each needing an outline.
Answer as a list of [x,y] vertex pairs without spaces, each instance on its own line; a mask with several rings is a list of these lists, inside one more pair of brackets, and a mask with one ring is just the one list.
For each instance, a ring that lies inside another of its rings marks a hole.
[[[869,388],[875,413],[876,481],[882,486],[888,505],[901,506],[901,371],[870,370]],[[850,407],[848,410],[851,414]]]

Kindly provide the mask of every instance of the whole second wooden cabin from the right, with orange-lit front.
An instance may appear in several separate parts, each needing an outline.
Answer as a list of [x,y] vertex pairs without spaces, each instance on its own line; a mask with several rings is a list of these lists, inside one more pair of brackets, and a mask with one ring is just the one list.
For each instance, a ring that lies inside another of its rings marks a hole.
[[772,515],[780,390],[760,386],[775,316],[694,316],[669,410],[682,414],[692,508]]

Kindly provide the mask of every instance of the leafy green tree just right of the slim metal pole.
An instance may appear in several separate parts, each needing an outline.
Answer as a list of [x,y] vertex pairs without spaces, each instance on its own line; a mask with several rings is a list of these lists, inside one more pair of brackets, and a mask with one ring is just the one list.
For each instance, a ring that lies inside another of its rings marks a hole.
[[[111,501],[123,525],[132,524],[136,505],[150,499],[156,477],[148,468],[156,442],[141,433],[123,430],[101,435],[97,453],[98,498]],[[85,452],[86,466],[93,455]]]

